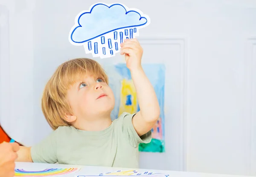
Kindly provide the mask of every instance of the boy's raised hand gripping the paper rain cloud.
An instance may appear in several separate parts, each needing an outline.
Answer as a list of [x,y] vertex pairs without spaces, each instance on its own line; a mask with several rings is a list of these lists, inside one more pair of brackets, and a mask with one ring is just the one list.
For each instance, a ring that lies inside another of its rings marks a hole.
[[141,58],[143,49],[137,39],[125,39],[121,43],[120,54],[125,54],[126,66],[130,70],[141,69]]

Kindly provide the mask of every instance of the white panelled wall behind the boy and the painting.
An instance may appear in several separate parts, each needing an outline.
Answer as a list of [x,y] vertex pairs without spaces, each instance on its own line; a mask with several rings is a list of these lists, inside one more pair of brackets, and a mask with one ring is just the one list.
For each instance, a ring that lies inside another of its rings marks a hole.
[[[2,37],[7,27],[0,30],[0,123],[27,146],[50,131],[40,99],[55,68],[91,57],[68,34],[76,14],[96,2],[0,0],[9,11],[9,40]],[[140,166],[256,175],[256,2],[119,2],[149,15],[151,24],[140,30],[143,62],[165,63],[167,70],[166,153],[141,153]]]

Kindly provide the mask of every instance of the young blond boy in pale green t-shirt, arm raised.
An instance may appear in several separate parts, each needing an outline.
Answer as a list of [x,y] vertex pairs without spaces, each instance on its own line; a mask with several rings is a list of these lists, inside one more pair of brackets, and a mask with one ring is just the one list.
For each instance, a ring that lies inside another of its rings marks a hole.
[[121,44],[140,111],[111,120],[115,100],[108,77],[94,60],[67,61],[48,81],[42,110],[54,131],[33,147],[20,147],[17,161],[138,168],[138,145],[151,141],[160,107],[141,66],[137,39]]

